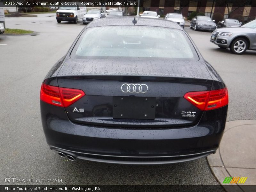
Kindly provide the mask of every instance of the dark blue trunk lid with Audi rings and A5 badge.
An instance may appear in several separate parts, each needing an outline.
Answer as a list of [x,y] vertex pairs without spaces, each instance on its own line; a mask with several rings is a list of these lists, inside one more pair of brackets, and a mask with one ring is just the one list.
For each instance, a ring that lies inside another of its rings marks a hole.
[[[203,111],[183,98],[212,88],[199,61],[69,59],[58,73],[59,87],[85,96],[66,108],[72,122],[111,127],[172,128],[196,124]],[[141,86],[141,87],[140,87]]]

